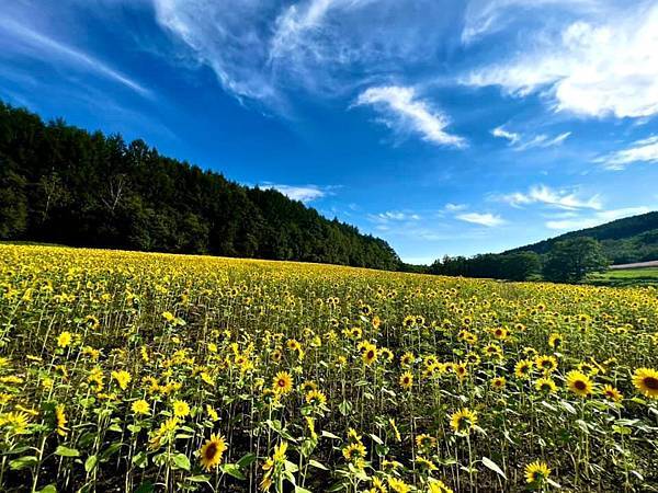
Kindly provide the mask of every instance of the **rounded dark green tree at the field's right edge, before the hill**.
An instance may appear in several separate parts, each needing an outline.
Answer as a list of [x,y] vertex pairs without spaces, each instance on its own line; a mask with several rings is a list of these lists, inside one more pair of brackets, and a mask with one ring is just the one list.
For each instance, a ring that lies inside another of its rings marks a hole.
[[546,280],[578,283],[589,273],[610,265],[601,244],[593,238],[582,237],[555,243],[543,268]]

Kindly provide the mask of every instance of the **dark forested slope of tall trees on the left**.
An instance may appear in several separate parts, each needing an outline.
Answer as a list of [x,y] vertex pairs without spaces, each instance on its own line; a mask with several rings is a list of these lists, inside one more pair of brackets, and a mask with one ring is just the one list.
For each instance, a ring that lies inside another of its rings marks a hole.
[[322,262],[395,271],[384,240],[250,188],[0,102],[0,240]]

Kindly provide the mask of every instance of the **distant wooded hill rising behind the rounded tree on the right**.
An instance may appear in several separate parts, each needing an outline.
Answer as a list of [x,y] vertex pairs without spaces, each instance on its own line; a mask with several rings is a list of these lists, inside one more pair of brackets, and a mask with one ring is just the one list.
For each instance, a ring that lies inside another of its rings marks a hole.
[[571,231],[559,237],[520,246],[503,253],[547,253],[561,240],[590,237],[599,240],[613,264],[658,260],[658,211],[617,219],[593,228]]

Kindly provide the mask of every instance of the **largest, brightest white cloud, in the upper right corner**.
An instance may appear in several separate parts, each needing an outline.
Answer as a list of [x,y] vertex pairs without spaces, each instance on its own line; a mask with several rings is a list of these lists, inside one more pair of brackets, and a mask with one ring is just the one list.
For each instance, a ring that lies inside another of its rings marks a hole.
[[548,31],[536,33],[520,53],[461,81],[500,85],[521,96],[541,92],[556,111],[586,116],[638,118],[658,113],[656,2],[610,8],[588,22],[571,23],[557,38]]

